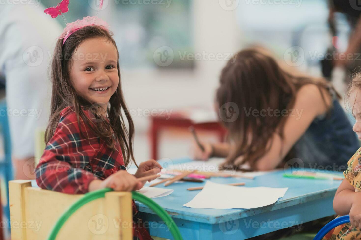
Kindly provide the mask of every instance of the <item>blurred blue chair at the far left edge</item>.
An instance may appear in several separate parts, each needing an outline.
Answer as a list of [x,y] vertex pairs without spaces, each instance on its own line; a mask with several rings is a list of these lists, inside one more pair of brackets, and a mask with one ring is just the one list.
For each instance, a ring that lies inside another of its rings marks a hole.
[[6,205],[3,204],[3,212],[5,217],[8,219],[7,227],[10,228],[10,208],[9,208],[9,181],[13,180],[13,168],[11,161],[11,142],[10,142],[10,130],[9,130],[9,121],[8,114],[6,110],[6,101],[0,101],[0,132],[3,135],[3,149],[4,149],[4,158],[0,159],[0,175],[2,176],[2,181],[4,181],[3,186],[5,186],[6,191]]

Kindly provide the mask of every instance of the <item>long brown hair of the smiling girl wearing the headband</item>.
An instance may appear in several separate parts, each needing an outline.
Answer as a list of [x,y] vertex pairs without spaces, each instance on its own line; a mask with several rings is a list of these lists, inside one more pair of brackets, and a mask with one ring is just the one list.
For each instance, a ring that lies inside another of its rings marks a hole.
[[[65,41],[64,45],[62,45],[62,39],[59,39],[57,41],[51,64],[52,97],[50,118],[49,124],[45,131],[44,140],[45,144],[49,142],[49,140],[54,135],[56,127],[58,126],[61,111],[64,108],[71,106],[74,108],[74,111],[77,114],[79,129],[79,118],[81,118],[88,127],[91,127],[93,129],[94,133],[97,136],[99,136],[105,141],[108,148],[114,149],[116,141],[119,141],[124,163],[125,166],[127,166],[130,160],[135,163],[132,148],[132,141],[134,138],[134,124],[131,116],[129,115],[126,103],[123,99],[119,60],[117,64],[119,83],[116,92],[114,92],[114,94],[110,97],[110,110],[108,111],[107,109],[107,112],[109,114],[109,122],[105,121],[105,118],[102,116],[100,111],[94,107],[93,103],[91,103],[77,93],[73,84],[70,81],[71,58],[77,47],[85,40],[100,37],[112,42],[117,50],[119,59],[118,48],[112,36],[112,32],[104,30],[102,27],[88,26],[83,27],[80,30],[71,34],[70,37]],[[92,121],[92,119],[90,119],[83,112],[82,108],[89,110],[96,119],[103,120]],[[129,130],[127,130],[125,126],[124,119],[120,111],[121,109],[126,115]],[[95,124],[95,127],[93,127],[92,124]],[[117,139],[114,139],[113,132],[116,135]],[[87,136],[82,137],[87,138]],[[135,165],[137,166],[136,163]]]

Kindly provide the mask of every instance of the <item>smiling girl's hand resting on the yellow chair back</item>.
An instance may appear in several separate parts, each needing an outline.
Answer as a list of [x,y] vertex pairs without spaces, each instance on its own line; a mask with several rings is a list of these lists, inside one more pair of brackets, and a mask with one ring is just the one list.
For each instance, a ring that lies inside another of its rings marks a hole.
[[114,191],[133,191],[141,189],[144,184],[126,170],[119,170],[102,181],[99,189],[110,187]]

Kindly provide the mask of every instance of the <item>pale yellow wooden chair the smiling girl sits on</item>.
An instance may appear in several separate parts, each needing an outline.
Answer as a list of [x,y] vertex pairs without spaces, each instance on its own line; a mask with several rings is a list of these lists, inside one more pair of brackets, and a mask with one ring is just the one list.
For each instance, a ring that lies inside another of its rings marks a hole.
[[[64,194],[31,187],[29,180],[9,182],[11,238],[47,239],[58,218],[83,194]],[[111,191],[70,216],[57,239],[132,239],[132,194]]]

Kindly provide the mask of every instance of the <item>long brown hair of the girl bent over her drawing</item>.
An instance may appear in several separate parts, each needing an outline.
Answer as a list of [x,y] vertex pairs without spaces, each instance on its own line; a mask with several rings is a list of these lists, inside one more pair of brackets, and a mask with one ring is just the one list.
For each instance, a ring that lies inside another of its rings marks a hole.
[[[219,110],[219,121],[227,128],[229,139],[234,142],[223,167],[239,169],[241,164],[247,162],[255,169],[257,160],[270,150],[273,134],[278,134],[283,140],[287,118],[282,114],[247,114],[249,109],[290,110],[297,91],[309,83],[318,86],[326,104],[322,89],[331,87],[326,80],[286,70],[264,50],[246,49],[229,60],[221,72],[216,102],[218,107],[223,106],[224,109],[238,107],[239,115],[232,121],[225,121],[229,112]],[[236,161],[240,156],[242,160]]]

